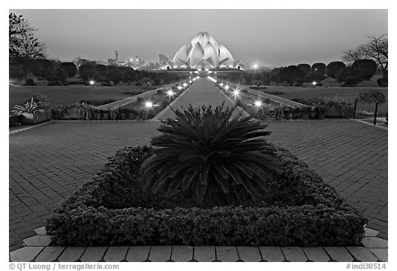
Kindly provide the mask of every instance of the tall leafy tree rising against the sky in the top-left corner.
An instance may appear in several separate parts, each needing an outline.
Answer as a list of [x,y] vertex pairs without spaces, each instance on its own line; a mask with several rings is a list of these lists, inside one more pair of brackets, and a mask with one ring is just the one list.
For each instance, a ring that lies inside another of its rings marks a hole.
[[34,28],[23,19],[22,15],[17,16],[10,13],[9,21],[9,59],[10,61],[28,61],[32,59],[45,58],[45,45],[34,37]]

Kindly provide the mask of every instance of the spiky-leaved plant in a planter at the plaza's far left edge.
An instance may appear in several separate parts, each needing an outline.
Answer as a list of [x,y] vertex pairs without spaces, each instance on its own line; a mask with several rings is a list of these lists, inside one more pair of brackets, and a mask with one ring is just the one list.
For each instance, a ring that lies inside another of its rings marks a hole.
[[48,115],[49,112],[40,109],[37,103],[32,98],[31,101],[26,102],[23,106],[14,106],[11,112],[15,115],[21,116],[22,124],[30,124],[34,125],[37,123],[42,123],[44,121],[48,121],[50,117]]

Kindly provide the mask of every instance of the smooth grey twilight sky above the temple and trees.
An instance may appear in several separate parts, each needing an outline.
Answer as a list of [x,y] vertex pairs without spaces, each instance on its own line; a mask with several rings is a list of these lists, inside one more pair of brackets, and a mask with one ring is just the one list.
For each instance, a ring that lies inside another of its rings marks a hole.
[[340,60],[368,35],[387,34],[387,10],[10,10],[22,14],[50,57],[170,60],[209,32],[234,60],[286,66]]

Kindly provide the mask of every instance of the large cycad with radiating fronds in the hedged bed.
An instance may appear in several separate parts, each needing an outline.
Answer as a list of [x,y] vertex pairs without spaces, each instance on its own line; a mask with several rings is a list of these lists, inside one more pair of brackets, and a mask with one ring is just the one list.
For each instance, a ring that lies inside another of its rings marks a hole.
[[224,104],[175,110],[151,144],[152,157],[141,166],[144,190],[165,199],[187,199],[196,206],[261,201],[267,181],[280,173],[266,126]]

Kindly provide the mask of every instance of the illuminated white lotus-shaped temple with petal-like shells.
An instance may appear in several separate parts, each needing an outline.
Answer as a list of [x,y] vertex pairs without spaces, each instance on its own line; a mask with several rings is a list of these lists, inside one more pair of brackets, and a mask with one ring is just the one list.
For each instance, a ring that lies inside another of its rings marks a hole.
[[174,59],[168,61],[172,69],[238,69],[240,61],[234,61],[232,54],[218,43],[208,32],[199,32],[190,43],[176,52]]

